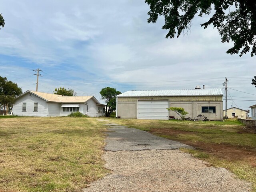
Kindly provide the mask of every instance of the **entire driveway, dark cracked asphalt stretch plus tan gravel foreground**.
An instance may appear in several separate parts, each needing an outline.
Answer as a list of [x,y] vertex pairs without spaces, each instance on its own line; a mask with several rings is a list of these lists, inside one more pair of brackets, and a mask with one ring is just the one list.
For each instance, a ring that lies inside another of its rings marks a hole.
[[84,192],[248,192],[251,184],[178,150],[185,144],[133,128],[110,128],[105,167]]

